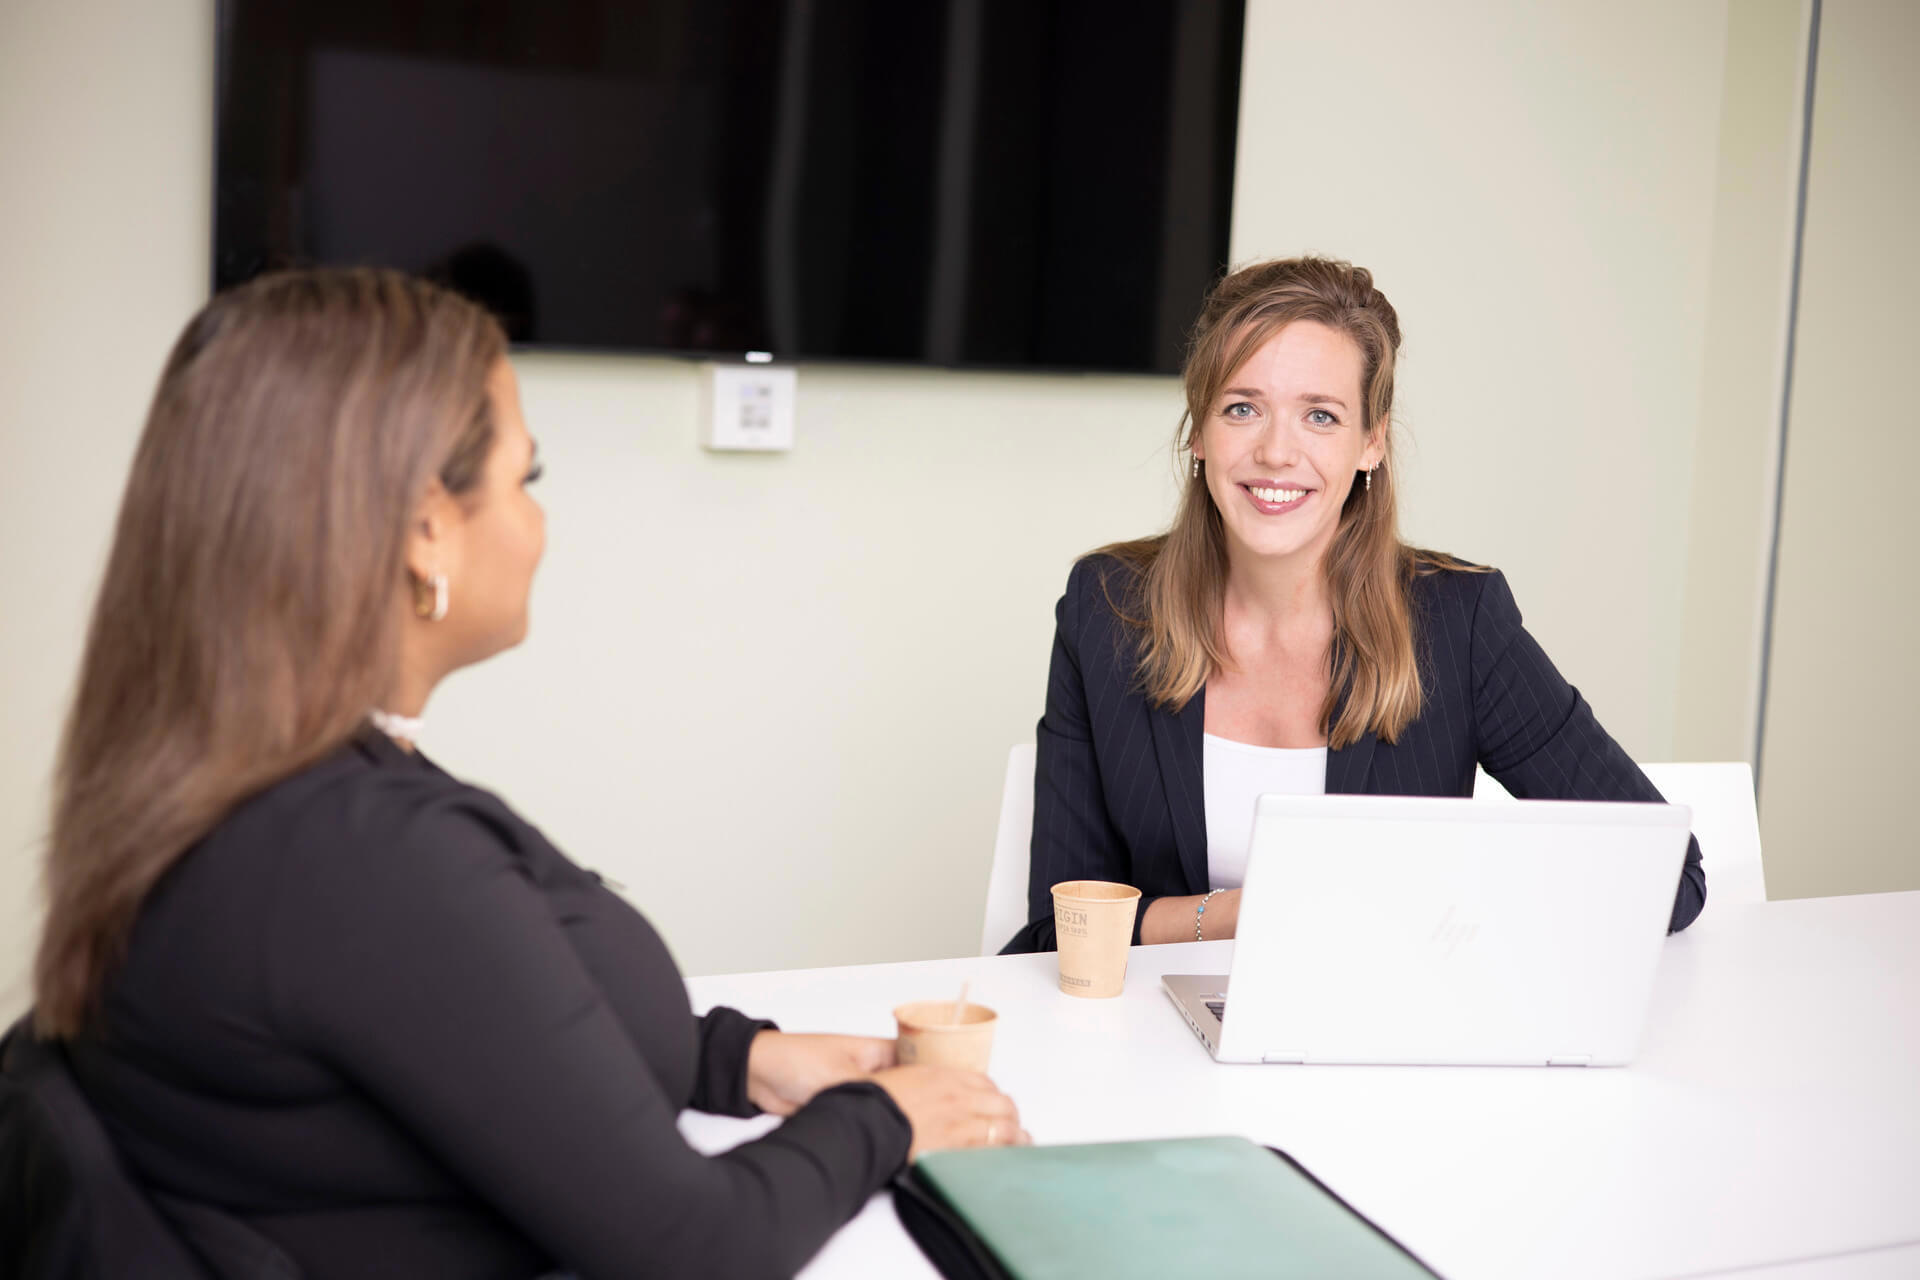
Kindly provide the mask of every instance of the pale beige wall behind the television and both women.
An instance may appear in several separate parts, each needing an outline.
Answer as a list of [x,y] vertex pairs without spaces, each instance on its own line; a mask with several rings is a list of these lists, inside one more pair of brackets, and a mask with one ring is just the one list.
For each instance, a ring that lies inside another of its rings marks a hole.
[[[205,280],[211,4],[0,23],[17,1002],[84,604]],[[1407,332],[1407,532],[1507,568],[1644,758],[1676,741],[1726,33],[1724,4],[1248,13],[1235,257],[1379,273]],[[536,629],[434,699],[430,748],[626,883],[691,971],[970,950],[1052,601],[1077,551],[1164,518],[1173,384],[806,368],[793,455],[712,457],[687,365],[522,378],[551,462]]]

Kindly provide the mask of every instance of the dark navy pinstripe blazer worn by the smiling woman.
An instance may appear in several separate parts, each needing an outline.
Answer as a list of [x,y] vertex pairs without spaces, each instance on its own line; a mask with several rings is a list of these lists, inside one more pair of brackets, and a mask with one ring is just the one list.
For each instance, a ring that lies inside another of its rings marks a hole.
[[[1177,712],[1148,704],[1137,681],[1137,633],[1114,614],[1102,581],[1125,599],[1131,570],[1110,557],[1083,558],[1054,612],[1033,777],[1029,923],[1004,952],[1054,948],[1048,890],[1060,881],[1137,885],[1135,942],[1156,898],[1210,889],[1206,689]],[[1415,578],[1411,595],[1421,716],[1398,743],[1367,733],[1329,750],[1329,794],[1471,796],[1480,764],[1523,798],[1661,798],[1521,626],[1501,574],[1440,570]],[[1705,900],[1699,841],[1690,839],[1670,929],[1693,923]]]

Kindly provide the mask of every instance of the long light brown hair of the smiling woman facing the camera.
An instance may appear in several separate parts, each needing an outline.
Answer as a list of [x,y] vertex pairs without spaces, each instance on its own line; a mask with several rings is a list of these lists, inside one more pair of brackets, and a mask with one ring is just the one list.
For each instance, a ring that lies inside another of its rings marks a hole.
[[[1325,257],[1288,257],[1219,280],[1200,307],[1187,349],[1187,411],[1175,455],[1185,459],[1192,451],[1200,424],[1240,367],[1296,320],[1325,324],[1359,347],[1363,430],[1379,432],[1386,449],[1373,484],[1356,484],[1348,493],[1327,551],[1334,639],[1321,725],[1334,748],[1367,731],[1392,743],[1421,714],[1407,587],[1421,572],[1475,566],[1400,541],[1392,434],[1400,317],[1373,286],[1373,274]],[[1114,557],[1131,570],[1117,599],[1108,583],[1108,599],[1140,633],[1140,685],[1148,700],[1185,706],[1213,672],[1229,666],[1221,635],[1227,530],[1206,478],[1188,476],[1165,533],[1100,547],[1094,555]]]

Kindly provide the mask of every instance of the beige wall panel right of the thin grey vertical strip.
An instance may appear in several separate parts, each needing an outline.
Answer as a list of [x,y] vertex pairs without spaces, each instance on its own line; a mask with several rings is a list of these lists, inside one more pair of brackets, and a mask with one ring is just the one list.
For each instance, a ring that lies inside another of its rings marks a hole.
[[1920,8],[1828,0],[1761,775],[1768,892],[1920,889]]

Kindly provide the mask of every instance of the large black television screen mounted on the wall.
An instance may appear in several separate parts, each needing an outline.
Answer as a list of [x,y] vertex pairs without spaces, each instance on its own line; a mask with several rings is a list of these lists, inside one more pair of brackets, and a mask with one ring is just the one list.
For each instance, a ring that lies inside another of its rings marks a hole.
[[420,273],[516,344],[1171,372],[1242,0],[223,0],[215,288]]

